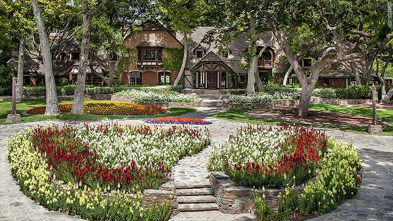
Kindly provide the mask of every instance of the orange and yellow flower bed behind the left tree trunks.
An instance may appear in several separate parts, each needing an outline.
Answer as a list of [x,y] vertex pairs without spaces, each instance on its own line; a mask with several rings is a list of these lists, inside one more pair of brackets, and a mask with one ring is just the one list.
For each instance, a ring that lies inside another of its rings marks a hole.
[[[59,104],[61,113],[70,113],[73,104]],[[86,114],[96,115],[155,115],[164,114],[166,110],[153,105],[137,105],[126,102],[85,102],[84,111]],[[26,111],[28,114],[44,114],[45,106],[36,107]]]

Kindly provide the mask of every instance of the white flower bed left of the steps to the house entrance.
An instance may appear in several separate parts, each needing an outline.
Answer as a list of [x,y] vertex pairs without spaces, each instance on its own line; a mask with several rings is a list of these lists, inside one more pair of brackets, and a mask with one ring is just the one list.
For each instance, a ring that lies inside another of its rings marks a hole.
[[179,94],[177,92],[170,93],[170,94],[169,93],[159,94],[159,93],[153,93],[153,92],[129,90],[129,91],[116,93],[115,95],[116,96],[132,97],[138,101],[183,102],[183,103],[194,102],[194,97],[192,95]]

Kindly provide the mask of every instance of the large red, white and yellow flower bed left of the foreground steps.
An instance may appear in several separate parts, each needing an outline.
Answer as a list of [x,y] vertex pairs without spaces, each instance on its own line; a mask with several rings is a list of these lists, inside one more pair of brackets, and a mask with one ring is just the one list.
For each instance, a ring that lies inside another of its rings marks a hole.
[[170,204],[143,208],[141,191],[158,188],[180,158],[209,143],[207,133],[187,127],[67,124],[20,132],[7,154],[21,190],[48,209],[91,220],[167,220]]

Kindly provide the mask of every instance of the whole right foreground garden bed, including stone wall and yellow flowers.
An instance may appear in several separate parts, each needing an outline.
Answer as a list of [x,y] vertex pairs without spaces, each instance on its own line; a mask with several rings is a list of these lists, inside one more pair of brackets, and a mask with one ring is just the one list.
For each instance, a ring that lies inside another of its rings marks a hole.
[[209,162],[211,171],[223,172],[210,177],[220,210],[256,209],[259,218],[275,220],[336,208],[356,194],[360,168],[352,142],[344,145],[318,130],[296,126],[242,127]]

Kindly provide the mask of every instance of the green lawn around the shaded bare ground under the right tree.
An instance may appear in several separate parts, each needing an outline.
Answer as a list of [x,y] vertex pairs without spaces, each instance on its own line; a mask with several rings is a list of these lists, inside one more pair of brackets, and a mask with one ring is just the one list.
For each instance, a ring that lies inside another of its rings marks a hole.
[[[349,107],[340,107],[329,104],[311,104],[310,110],[315,111],[325,111],[325,112],[336,112],[336,113],[345,113],[345,114],[353,114],[360,115],[365,117],[372,117],[372,110],[364,109],[364,108],[349,108]],[[255,117],[250,117],[245,115],[246,112],[249,112],[249,109],[230,109],[221,113],[213,114],[212,117],[232,120],[238,122],[246,122],[246,123],[255,123],[255,124],[267,124],[267,125],[275,125],[275,124],[284,124],[284,125],[294,125],[294,123],[288,122],[280,122],[280,121],[270,121],[263,120]],[[377,118],[389,122],[393,124],[393,111],[381,111],[377,110]],[[298,124],[302,126],[313,126],[319,128],[328,128],[328,129],[336,129],[343,130],[353,133],[367,133],[367,127],[357,127],[357,126],[333,126],[333,125],[321,125],[321,124]],[[383,135],[393,136],[393,125],[382,126]]]

